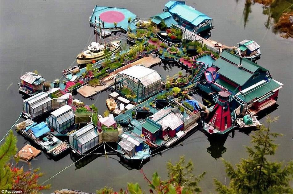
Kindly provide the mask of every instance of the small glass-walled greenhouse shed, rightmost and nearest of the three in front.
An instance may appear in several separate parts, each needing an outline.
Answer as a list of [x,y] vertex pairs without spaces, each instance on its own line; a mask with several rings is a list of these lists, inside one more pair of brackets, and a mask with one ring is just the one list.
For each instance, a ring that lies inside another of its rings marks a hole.
[[70,147],[72,147],[72,149],[79,155],[84,154],[86,151],[97,146],[98,143],[99,136],[92,124],[88,124],[69,135]]

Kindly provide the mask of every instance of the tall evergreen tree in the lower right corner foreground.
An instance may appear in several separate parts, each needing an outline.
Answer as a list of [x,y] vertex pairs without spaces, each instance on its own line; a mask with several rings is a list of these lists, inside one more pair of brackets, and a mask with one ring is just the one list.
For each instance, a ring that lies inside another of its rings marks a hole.
[[226,173],[230,179],[229,186],[214,179],[216,191],[221,194],[236,193],[292,193],[289,181],[293,175],[293,162],[282,168],[282,163],[271,162],[267,156],[272,156],[278,147],[274,138],[281,134],[270,132],[270,123],[277,118],[267,118],[268,127],[260,126],[252,135],[253,147],[246,147],[248,158],[241,159],[236,168],[224,160]]

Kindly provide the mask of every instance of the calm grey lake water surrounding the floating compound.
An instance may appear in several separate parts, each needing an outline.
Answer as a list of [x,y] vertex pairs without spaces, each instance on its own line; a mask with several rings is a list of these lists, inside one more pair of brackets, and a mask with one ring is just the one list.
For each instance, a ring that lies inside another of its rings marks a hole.
[[[18,93],[19,77],[25,72],[35,69],[47,80],[58,79],[61,71],[81,52],[91,35],[89,16],[94,6],[126,7],[140,18],[148,18],[160,13],[167,1],[160,0],[99,0],[99,1],[63,1],[63,0],[35,0],[35,1],[4,1],[0,0],[0,137],[11,127],[19,117],[22,109],[21,95]],[[270,69],[273,78],[284,83],[279,92],[279,107],[271,116],[280,116],[279,122],[272,125],[274,132],[284,134],[276,140],[280,144],[276,155],[272,159],[289,161],[292,159],[292,40],[286,40],[267,30],[264,26],[267,16],[262,14],[262,6],[251,6],[251,13],[246,27],[243,26],[244,0],[233,1],[213,0],[191,1],[187,4],[196,7],[213,18],[215,29],[212,39],[226,45],[237,45],[243,39],[253,39],[261,45],[262,56],[258,64]],[[93,36],[91,35],[90,38]],[[172,75],[178,71],[172,68],[164,72],[163,65],[154,67],[162,76]],[[93,100],[84,100],[88,104],[95,103],[100,113],[105,109],[107,92],[93,97]],[[265,119],[262,119],[264,122]],[[13,128],[14,129],[14,128]],[[222,157],[235,164],[247,156],[245,146],[250,145],[250,136],[238,131],[234,138],[211,141],[200,131],[191,135],[183,143],[162,156],[156,155],[143,166],[144,172],[151,177],[154,171],[166,178],[166,162],[177,161],[181,155],[192,159],[195,174],[206,171],[204,180],[200,183],[204,193],[214,192],[213,177],[225,182],[225,168],[220,159],[215,159],[207,152],[213,146],[219,150],[227,148]],[[18,147],[27,142],[18,135]],[[214,155],[214,154],[213,154]],[[94,157],[92,158],[94,159]],[[129,170],[118,163],[115,155],[98,157],[84,167],[72,165],[47,183],[52,184],[50,191],[69,188],[85,192],[95,192],[107,185],[114,189],[125,188],[127,182],[138,182],[143,189],[147,183],[138,170]],[[59,161],[47,159],[42,153],[32,162],[32,167],[40,167],[45,175],[40,182],[47,180],[64,167],[72,164],[70,155]]]

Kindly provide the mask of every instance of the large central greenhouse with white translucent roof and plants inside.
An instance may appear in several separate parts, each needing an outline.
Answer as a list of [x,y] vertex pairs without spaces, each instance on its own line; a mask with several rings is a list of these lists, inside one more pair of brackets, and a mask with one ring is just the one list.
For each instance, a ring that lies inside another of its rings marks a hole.
[[119,88],[130,89],[136,95],[136,98],[133,99],[136,102],[153,96],[161,89],[162,78],[153,69],[142,65],[134,65],[119,73],[120,75],[115,78],[115,89],[117,91]]

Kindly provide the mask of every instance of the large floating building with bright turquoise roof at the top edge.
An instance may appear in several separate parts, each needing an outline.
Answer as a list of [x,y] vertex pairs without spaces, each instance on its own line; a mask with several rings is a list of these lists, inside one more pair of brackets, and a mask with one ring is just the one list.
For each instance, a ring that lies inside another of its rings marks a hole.
[[165,4],[165,12],[169,12],[173,18],[188,30],[206,37],[210,36],[213,28],[213,19],[195,8],[185,4],[185,1],[169,1]]

